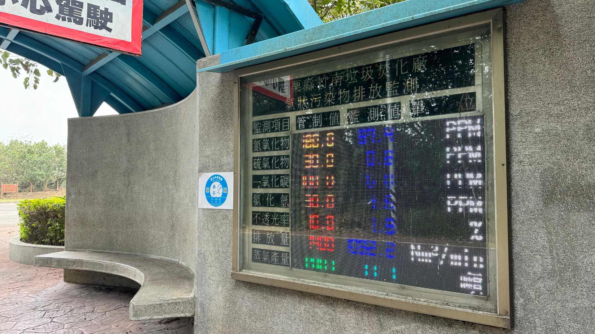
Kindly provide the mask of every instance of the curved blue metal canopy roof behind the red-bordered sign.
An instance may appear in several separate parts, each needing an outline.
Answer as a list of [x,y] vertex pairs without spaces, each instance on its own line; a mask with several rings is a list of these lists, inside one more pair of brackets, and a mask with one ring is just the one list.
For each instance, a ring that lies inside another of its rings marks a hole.
[[196,60],[250,43],[251,31],[258,42],[322,24],[307,0],[143,2],[142,57],[7,27],[0,48],[65,75],[79,116],[103,102],[124,114],[188,96]]

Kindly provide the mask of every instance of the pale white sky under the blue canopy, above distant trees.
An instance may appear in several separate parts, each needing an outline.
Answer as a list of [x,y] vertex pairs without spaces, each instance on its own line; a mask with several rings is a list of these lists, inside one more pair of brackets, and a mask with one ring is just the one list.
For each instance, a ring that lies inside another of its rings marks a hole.
[[[42,74],[39,87],[27,90],[23,87],[23,75],[15,79],[10,69],[0,67],[0,141],[7,143],[16,138],[45,140],[51,145],[66,144],[67,119],[78,114],[66,78],[60,77],[53,83],[54,77],[50,77],[47,70],[39,65]],[[104,103],[95,116],[115,114],[117,112]]]

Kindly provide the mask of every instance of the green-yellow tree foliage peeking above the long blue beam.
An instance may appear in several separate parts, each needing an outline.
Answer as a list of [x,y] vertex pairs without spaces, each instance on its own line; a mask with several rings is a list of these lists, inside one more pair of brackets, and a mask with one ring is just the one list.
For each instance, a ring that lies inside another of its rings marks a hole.
[[324,22],[374,10],[405,0],[308,0]]

